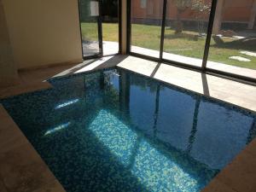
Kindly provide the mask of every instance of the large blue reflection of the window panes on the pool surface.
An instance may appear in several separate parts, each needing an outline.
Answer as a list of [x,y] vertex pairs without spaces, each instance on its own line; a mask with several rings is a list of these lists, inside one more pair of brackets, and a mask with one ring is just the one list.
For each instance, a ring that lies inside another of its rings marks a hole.
[[132,124],[213,170],[221,170],[255,137],[250,113],[137,75],[130,79],[125,85]]

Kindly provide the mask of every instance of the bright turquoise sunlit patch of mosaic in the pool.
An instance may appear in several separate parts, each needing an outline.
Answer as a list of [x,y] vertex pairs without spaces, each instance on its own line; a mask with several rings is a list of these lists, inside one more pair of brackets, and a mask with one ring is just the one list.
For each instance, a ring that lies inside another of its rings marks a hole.
[[98,113],[89,129],[121,164],[131,168],[131,173],[148,189],[198,191],[194,177],[107,110],[102,109]]

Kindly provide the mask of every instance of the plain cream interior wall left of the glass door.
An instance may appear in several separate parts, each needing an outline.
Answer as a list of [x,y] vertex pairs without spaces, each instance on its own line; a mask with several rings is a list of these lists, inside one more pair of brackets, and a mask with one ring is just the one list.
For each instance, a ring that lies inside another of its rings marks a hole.
[[78,0],[2,0],[17,67],[82,61]]

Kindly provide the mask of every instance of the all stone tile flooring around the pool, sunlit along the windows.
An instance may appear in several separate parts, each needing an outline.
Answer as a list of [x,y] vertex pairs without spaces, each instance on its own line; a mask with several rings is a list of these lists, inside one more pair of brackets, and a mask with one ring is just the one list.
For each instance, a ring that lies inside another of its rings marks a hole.
[[[44,82],[45,79],[50,77],[83,73],[113,66],[142,73],[151,78],[256,111],[256,87],[253,85],[241,84],[236,81],[127,55],[108,56],[98,60],[84,61],[84,63],[73,66],[49,67],[20,72],[20,84],[4,89],[0,88],[0,98],[34,90],[50,89],[50,84]],[[7,130],[7,127],[11,128]],[[0,132],[0,191],[46,191],[46,189],[41,188],[43,186],[47,187],[49,191],[63,191],[53,178],[54,176],[45,167],[44,161],[39,158],[30,143],[26,141],[20,129],[10,119],[3,107],[0,107]],[[223,172],[220,172],[204,191],[256,191],[256,183],[254,182],[256,180],[255,152],[256,140],[242,151]],[[27,157],[30,157],[29,161],[27,161]],[[38,170],[33,168],[35,166],[41,167],[38,169],[40,172],[46,172],[43,174],[43,178],[34,177],[40,175]],[[33,177],[34,179],[31,183],[27,183],[26,177],[19,176],[18,173],[20,172],[27,172],[29,178]],[[54,182],[49,182],[48,177]],[[46,181],[46,183],[43,181]],[[35,186],[40,187],[40,189],[34,189]],[[31,190],[26,190],[27,188],[31,188]]]

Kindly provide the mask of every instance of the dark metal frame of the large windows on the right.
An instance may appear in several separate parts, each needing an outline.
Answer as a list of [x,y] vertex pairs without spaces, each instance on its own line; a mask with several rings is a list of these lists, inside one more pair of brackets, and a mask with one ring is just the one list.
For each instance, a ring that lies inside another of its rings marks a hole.
[[166,8],[167,8],[167,0],[163,1],[163,14],[162,14],[162,25],[161,25],[161,36],[160,36],[160,56],[159,57],[152,57],[149,55],[143,55],[135,52],[131,52],[131,1],[132,0],[127,0],[127,54],[128,55],[133,55],[137,56],[146,60],[150,61],[157,61],[157,62],[162,62],[167,65],[175,66],[175,67],[182,67],[186,68],[189,70],[194,70],[198,71],[201,73],[207,73],[207,74],[212,74],[214,76],[222,77],[225,79],[232,79],[241,83],[245,84],[253,84],[255,85],[256,83],[256,77],[250,78],[247,76],[242,76],[239,74],[235,73],[229,73],[229,72],[224,72],[220,71],[217,69],[212,69],[207,67],[207,61],[208,61],[208,55],[209,55],[209,49],[210,49],[210,44],[211,44],[211,38],[212,38],[212,27],[214,23],[214,16],[216,12],[216,7],[218,0],[212,0],[212,7],[211,7],[211,12],[209,15],[209,20],[208,20],[208,26],[207,26],[207,38],[206,38],[206,43],[205,43],[205,48],[204,48],[204,54],[202,58],[202,65],[201,67],[196,67],[193,65],[189,65],[183,62],[177,62],[177,61],[171,61],[171,60],[166,60],[163,58],[163,46],[164,46],[164,38],[165,38],[165,27],[166,27]]

